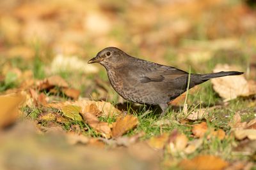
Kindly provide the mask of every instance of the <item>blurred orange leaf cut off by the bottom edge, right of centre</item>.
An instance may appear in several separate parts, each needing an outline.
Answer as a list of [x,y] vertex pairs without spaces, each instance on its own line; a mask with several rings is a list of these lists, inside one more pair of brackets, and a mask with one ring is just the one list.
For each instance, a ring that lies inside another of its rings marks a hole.
[[228,166],[225,160],[214,155],[198,155],[188,160],[184,159],[180,162],[181,169],[197,169],[197,170],[221,170]]

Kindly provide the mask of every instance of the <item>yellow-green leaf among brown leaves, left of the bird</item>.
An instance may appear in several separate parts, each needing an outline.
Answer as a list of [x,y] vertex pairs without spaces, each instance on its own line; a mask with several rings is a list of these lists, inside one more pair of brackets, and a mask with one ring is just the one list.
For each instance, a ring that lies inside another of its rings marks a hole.
[[83,118],[79,114],[80,110],[81,107],[76,105],[67,105],[61,108],[61,111],[63,112],[63,115],[65,115],[65,117],[71,118],[75,121],[83,121]]

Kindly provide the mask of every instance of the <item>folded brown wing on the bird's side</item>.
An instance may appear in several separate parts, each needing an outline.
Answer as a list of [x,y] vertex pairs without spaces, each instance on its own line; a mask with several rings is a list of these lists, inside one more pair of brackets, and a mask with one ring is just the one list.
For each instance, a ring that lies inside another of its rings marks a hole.
[[144,69],[145,72],[140,75],[141,83],[148,83],[150,81],[170,81],[188,75],[186,71],[159,64],[154,64],[151,67],[147,66],[144,67]]

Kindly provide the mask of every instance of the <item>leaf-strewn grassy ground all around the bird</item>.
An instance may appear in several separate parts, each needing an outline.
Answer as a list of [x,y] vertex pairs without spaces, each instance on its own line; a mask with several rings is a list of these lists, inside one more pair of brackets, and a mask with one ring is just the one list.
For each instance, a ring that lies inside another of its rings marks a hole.
[[[0,169],[256,169],[253,1],[0,8]],[[106,46],[190,73],[244,74],[196,86],[160,117],[87,64]]]

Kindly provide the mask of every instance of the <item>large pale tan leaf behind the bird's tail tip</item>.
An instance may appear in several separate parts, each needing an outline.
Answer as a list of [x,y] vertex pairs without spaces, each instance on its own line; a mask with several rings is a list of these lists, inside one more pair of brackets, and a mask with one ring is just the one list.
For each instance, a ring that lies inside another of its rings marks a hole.
[[[236,67],[218,64],[214,68],[214,73],[220,71],[236,71]],[[248,96],[250,94],[248,81],[243,75],[224,76],[221,78],[212,78],[213,89],[224,99],[230,101],[236,99],[237,96]]]

